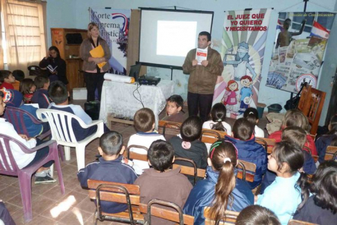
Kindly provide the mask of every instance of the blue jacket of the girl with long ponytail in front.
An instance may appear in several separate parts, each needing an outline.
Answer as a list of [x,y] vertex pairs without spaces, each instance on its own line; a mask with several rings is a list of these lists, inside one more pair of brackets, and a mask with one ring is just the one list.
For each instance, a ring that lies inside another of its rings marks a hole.
[[[215,186],[218,183],[219,173],[207,167],[207,178],[199,181],[191,190],[184,206],[184,214],[194,217],[194,225],[205,224],[204,208],[211,206],[214,199]],[[245,181],[236,178],[235,188],[232,191],[234,202],[228,210],[240,212],[243,208],[254,204],[254,195]]]

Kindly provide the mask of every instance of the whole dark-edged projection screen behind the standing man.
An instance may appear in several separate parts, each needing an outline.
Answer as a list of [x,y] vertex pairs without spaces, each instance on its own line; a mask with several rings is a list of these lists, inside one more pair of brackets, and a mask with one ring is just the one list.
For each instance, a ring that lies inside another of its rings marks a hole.
[[212,19],[213,12],[141,8],[139,62],[182,67],[189,50],[197,47],[198,34],[211,33]]

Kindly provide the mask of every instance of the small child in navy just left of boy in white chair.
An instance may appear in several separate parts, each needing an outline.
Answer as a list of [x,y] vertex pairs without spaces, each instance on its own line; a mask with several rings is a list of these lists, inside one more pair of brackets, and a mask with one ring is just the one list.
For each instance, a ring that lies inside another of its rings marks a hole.
[[49,88],[49,78],[47,76],[37,76],[34,79],[36,86],[36,91],[31,98],[32,103],[38,103],[39,108],[48,108],[51,103],[49,98],[48,88]]

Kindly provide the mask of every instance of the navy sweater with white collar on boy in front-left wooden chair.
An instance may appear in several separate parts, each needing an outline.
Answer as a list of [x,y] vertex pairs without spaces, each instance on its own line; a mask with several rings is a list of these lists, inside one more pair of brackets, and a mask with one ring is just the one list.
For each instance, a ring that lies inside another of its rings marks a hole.
[[[119,156],[116,160],[106,161],[99,158],[98,162],[89,163],[77,174],[80,185],[87,188],[88,179],[133,184],[137,179],[137,174],[122,160],[123,156]],[[128,208],[126,204],[111,201],[101,201],[101,206],[105,213],[120,213]]]

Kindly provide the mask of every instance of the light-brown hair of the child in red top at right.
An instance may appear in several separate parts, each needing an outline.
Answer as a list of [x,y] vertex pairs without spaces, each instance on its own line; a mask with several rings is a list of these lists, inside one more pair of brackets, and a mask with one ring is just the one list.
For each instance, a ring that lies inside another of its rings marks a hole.
[[284,128],[287,126],[299,126],[300,128],[304,129],[304,131],[308,131],[309,121],[308,118],[300,110],[292,109],[286,111],[282,126]]

